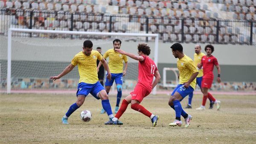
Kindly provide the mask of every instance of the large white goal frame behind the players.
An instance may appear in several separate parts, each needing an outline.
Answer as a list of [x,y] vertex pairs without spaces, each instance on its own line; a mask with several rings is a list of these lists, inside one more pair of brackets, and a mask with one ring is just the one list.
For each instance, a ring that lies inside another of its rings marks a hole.
[[[70,34],[70,35],[108,35],[108,36],[135,36],[135,37],[155,37],[154,40],[154,62],[158,63],[158,34],[141,34],[141,33],[117,33],[117,32],[77,32],[77,31],[55,31],[40,29],[8,29],[8,53],[7,53],[7,93],[11,93],[11,66],[12,66],[12,32],[32,32],[32,33],[49,33],[49,34]],[[153,89],[153,95],[156,95],[156,86]]]

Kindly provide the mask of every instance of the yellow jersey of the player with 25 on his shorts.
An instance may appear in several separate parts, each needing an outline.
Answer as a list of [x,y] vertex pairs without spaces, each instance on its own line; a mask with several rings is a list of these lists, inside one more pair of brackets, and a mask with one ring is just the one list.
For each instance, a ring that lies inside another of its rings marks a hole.
[[[190,77],[192,76],[192,74],[195,72],[198,72],[198,69],[196,68],[195,64],[193,63],[193,60],[186,55],[183,58],[177,60],[177,67],[178,67],[179,73],[180,73],[180,83],[179,84],[184,84],[184,83],[188,82]],[[196,79],[194,79],[190,83],[190,86],[193,89],[195,89],[195,85],[196,85]]]

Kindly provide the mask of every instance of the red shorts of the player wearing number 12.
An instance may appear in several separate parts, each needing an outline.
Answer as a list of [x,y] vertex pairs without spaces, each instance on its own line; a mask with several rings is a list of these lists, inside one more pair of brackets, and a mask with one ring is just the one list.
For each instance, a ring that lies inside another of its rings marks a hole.
[[148,92],[148,90],[145,89],[143,86],[136,85],[134,88],[134,91],[131,92],[130,94],[131,94],[132,100],[137,100],[137,101],[140,101],[140,103],[141,103],[143,98],[148,96],[150,94],[150,92]]

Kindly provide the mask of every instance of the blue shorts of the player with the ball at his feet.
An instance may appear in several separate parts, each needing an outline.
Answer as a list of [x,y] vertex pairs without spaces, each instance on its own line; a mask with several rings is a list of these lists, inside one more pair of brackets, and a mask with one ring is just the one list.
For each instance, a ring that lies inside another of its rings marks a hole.
[[97,96],[97,94],[103,89],[104,87],[100,84],[99,81],[97,81],[95,84],[87,84],[81,82],[77,86],[76,96],[84,95],[84,97],[86,97],[90,93],[94,98],[99,100],[100,98]]

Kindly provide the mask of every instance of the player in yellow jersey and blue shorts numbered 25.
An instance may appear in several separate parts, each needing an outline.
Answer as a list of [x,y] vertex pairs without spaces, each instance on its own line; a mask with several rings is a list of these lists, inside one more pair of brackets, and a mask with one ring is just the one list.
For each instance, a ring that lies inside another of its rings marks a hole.
[[192,93],[196,85],[196,76],[198,75],[198,69],[193,63],[193,60],[183,53],[183,47],[180,43],[175,43],[171,46],[172,55],[177,60],[177,67],[179,70],[179,84],[173,90],[172,95],[169,99],[169,106],[175,110],[176,118],[175,121],[170,123],[170,126],[181,126],[182,121],[180,115],[185,118],[185,127],[189,127],[192,119],[191,115],[188,115],[181,107],[180,101],[183,100],[187,95]]

